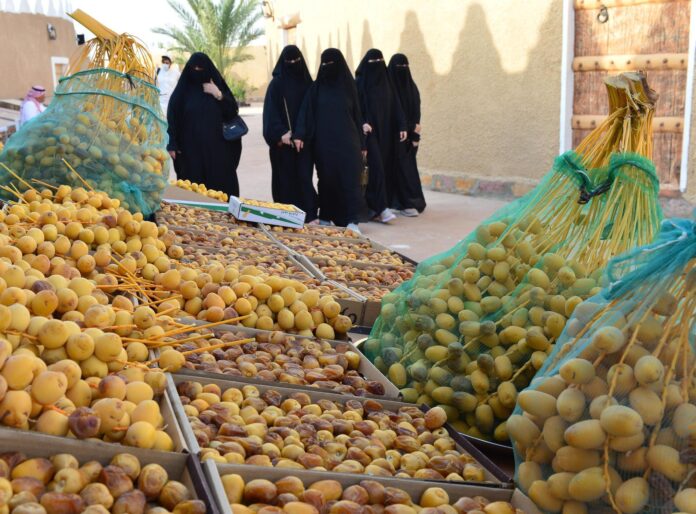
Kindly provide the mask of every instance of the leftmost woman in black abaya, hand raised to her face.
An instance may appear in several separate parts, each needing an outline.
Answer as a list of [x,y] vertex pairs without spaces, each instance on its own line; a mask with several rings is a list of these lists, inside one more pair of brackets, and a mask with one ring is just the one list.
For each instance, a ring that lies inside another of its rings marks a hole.
[[242,141],[226,141],[223,122],[237,116],[232,91],[210,58],[191,55],[167,109],[169,143],[177,178],[239,196],[237,166]]

